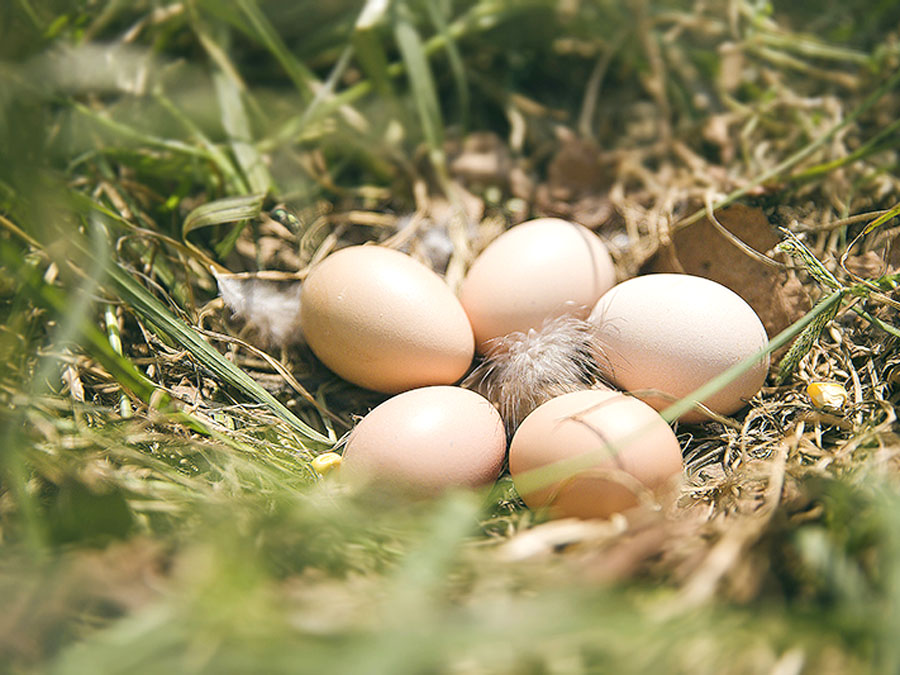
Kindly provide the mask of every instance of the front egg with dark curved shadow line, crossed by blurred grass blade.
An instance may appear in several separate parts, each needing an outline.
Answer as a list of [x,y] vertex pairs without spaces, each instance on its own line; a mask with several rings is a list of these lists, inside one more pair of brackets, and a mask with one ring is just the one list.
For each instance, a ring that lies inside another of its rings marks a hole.
[[[567,466],[551,466],[555,462]],[[573,466],[577,464],[577,466]],[[544,472],[535,471],[544,467]],[[665,420],[625,394],[590,389],[536,408],[509,448],[509,470],[531,508],[554,517],[607,518],[668,496],[682,473]]]

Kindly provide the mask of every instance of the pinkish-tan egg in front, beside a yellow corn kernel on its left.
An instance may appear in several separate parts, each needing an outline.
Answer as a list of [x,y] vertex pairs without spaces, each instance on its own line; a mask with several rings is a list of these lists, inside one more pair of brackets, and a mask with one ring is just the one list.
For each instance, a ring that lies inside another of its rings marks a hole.
[[494,481],[506,432],[494,406],[461,387],[412,389],[374,408],[350,433],[341,474],[414,494]]

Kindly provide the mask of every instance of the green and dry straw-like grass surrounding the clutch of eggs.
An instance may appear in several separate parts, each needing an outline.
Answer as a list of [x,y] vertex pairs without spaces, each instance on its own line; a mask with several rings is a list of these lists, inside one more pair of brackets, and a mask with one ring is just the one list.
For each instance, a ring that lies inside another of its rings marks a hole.
[[[898,201],[894,8],[361,9],[0,10],[0,667],[896,671],[890,279],[831,265],[871,321],[845,303],[745,419],[691,430],[712,450],[672,512],[561,532],[506,481],[408,504],[323,480],[378,397],[302,348],[267,360],[209,271],[290,276],[416,212],[452,283],[466,198],[483,230],[607,213],[623,273],[738,197],[839,257]],[[454,163],[472,130],[499,172]],[[822,373],[844,411],[803,399]]]

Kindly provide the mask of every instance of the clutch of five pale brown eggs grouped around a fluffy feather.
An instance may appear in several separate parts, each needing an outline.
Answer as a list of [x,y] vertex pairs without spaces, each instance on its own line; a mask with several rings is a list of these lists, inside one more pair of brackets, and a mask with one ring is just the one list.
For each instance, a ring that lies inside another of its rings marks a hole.
[[[476,348],[570,314],[596,329],[597,360],[616,386],[646,403],[589,389],[539,406],[510,446],[520,494],[551,515],[585,518],[667,494],[681,475],[681,452],[654,408],[762,349],[765,330],[739,296],[706,279],[650,275],[614,283],[600,239],[553,218],[498,237],[473,263],[459,300],[403,253],[353,246],[328,256],[303,285],[310,348],[350,382],[398,394],[351,432],[342,475],[424,494],[495,480],[506,454],[503,421],[487,399],[446,385],[466,373]],[[704,403],[734,412],[759,390],[767,369],[761,358]],[[570,473],[560,474],[566,466]]]

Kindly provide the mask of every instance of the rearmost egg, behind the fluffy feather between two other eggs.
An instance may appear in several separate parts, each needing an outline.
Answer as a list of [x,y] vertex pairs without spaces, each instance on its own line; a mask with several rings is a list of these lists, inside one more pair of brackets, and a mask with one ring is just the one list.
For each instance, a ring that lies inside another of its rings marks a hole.
[[538,218],[491,242],[463,280],[460,302],[484,352],[492,338],[538,330],[547,319],[587,317],[615,281],[597,235],[566,220]]

